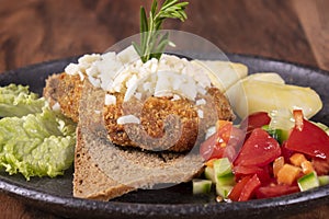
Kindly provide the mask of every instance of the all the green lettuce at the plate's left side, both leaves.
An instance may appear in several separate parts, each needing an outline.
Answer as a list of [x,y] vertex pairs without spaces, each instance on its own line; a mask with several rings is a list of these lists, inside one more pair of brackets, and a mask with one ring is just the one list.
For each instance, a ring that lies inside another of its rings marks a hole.
[[0,169],[31,176],[64,174],[73,161],[76,124],[29,87],[0,88]]

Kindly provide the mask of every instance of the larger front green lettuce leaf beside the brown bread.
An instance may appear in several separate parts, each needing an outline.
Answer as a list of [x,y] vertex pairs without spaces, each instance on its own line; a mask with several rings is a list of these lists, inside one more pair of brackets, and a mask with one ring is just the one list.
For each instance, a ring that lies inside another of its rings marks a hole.
[[42,113],[0,119],[0,166],[10,174],[61,175],[73,161],[76,124],[61,114]]

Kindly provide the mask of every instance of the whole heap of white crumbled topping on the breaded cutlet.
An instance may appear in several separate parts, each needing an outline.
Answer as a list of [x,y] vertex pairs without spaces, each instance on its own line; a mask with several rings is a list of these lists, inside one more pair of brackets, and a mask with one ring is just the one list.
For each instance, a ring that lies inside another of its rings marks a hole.
[[205,69],[185,58],[163,54],[160,60],[152,58],[144,64],[133,46],[117,55],[84,55],[78,64],[68,65],[65,71],[79,74],[81,80],[87,77],[94,87],[105,91],[125,93],[124,101],[132,96],[140,99],[145,93],[180,95],[195,101],[197,93],[205,94],[212,85]]

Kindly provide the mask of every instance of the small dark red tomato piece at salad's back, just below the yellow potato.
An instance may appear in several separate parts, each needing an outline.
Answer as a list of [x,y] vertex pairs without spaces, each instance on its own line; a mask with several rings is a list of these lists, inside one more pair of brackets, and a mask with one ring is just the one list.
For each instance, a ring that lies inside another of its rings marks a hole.
[[250,114],[247,118],[245,118],[240,123],[240,128],[242,130],[247,130],[247,132],[250,132],[256,128],[261,128],[264,125],[269,125],[270,122],[271,122],[271,117],[266,112],[257,112]]

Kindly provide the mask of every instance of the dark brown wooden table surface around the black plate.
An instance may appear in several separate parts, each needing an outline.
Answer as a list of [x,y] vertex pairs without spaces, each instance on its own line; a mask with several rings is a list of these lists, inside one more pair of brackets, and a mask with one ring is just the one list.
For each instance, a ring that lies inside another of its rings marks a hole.
[[[139,31],[145,0],[0,0],[0,72],[101,53]],[[190,0],[189,19],[166,28],[202,36],[226,53],[329,70],[328,0]],[[292,218],[327,218],[329,207]],[[0,218],[58,218],[0,193]]]

